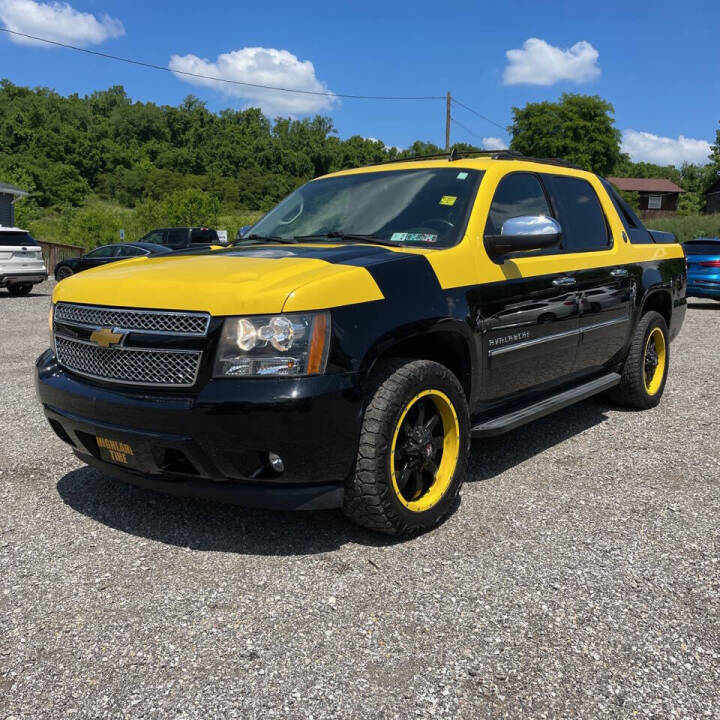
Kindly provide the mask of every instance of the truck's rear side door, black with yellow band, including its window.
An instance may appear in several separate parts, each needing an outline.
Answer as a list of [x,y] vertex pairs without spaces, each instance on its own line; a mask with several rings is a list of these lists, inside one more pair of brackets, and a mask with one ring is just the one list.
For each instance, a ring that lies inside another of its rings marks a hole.
[[[615,361],[630,332],[633,287],[627,268],[613,264],[612,233],[597,193],[582,178],[545,175],[566,252],[592,253],[593,265],[574,274],[580,306],[578,371]],[[618,239],[619,240],[619,239]]]

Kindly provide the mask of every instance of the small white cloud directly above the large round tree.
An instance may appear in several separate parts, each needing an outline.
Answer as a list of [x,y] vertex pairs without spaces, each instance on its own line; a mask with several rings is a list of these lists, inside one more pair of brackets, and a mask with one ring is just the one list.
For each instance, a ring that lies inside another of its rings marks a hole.
[[529,38],[522,50],[508,50],[505,55],[505,85],[553,85],[560,80],[582,83],[600,77],[598,51],[584,40],[563,50],[540,38]]

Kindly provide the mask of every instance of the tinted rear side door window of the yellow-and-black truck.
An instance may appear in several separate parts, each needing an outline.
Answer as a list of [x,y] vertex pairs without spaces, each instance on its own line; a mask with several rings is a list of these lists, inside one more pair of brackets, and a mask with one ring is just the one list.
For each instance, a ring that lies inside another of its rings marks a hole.
[[597,193],[587,180],[545,176],[563,229],[563,249],[605,250],[610,245],[607,223]]

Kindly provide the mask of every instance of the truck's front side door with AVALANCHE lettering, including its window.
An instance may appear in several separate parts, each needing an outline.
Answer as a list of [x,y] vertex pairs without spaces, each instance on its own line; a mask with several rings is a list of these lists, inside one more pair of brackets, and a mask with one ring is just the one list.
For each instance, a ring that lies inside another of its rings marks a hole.
[[[552,215],[545,191],[537,175],[511,173],[495,192],[485,234],[498,235],[506,220],[527,215]],[[551,258],[536,255],[532,254],[532,274],[521,267],[520,257],[505,260],[509,274],[525,277],[481,285],[473,298],[483,329],[484,402],[572,372],[579,337],[576,281],[573,273],[543,274],[544,260]]]

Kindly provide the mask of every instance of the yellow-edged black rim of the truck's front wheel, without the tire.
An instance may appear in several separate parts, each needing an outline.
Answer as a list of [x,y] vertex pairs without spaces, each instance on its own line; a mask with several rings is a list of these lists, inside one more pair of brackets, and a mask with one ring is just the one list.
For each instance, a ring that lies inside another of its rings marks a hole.
[[460,453],[460,423],[450,398],[423,390],[407,403],[390,446],[390,479],[413,512],[436,505],[450,487]]

